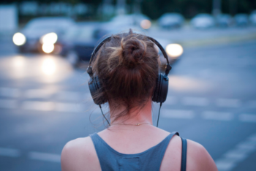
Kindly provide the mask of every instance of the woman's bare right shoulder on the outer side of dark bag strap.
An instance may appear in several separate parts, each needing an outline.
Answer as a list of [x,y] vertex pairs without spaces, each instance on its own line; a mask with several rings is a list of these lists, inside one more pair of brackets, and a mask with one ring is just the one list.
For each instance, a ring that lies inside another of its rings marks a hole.
[[217,171],[217,166],[206,148],[197,142],[187,140],[187,171]]

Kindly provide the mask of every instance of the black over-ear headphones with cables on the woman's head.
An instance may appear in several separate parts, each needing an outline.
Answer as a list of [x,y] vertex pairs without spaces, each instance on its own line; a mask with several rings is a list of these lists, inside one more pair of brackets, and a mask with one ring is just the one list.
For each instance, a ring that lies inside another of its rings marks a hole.
[[[102,41],[97,44],[97,46],[94,48],[94,51],[91,53],[91,59],[89,61],[89,66],[87,68],[87,73],[90,75],[89,89],[91,92],[91,96],[92,96],[92,99],[94,100],[94,103],[98,104],[100,109],[101,109],[101,104],[108,102],[108,99],[105,96],[95,96],[95,95],[101,93],[103,90],[102,90],[102,86],[99,82],[99,77],[94,76],[94,74],[92,72],[91,61],[93,60],[94,56],[98,52],[99,48],[102,47],[102,45],[104,45],[105,42],[110,41],[111,37],[112,36],[105,37],[105,39],[102,39]],[[154,42],[154,44],[156,44],[159,47],[159,49],[162,51],[162,54],[166,58],[166,61],[167,61],[167,64],[165,67],[165,75],[162,75],[161,73],[159,73],[157,80],[156,80],[157,83],[156,83],[156,87],[154,89],[154,94],[152,97],[152,101],[160,103],[160,107],[161,107],[162,103],[165,102],[166,97],[167,97],[168,85],[169,85],[169,79],[167,76],[170,72],[170,69],[172,69],[172,66],[170,66],[170,64],[169,64],[168,56],[165,52],[165,49],[162,47],[162,45],[160,45],[159,42],[157,42],[157,40],[153,39],[152,37],[147,37],[147,38],[149,40],[151,40],[151,42]],[[160,112],[160,108],[159,108],[159,112]],[[105,117],[105,115],[103,113],[102,113],[102,115]],[[158,119],[157,119],[157,126],[158,126],[158,121],[159,121],[159,115],[158,115]],[[108,122],[108,124],[110,125],[109,122]]]

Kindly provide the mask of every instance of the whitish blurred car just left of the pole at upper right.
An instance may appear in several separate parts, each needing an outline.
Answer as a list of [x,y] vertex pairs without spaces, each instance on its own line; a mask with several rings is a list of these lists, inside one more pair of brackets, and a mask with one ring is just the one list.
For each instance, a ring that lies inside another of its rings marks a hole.
[[215,26],[214,17],[209,14],[198,14],[190,21],[194,28],[211,28]]

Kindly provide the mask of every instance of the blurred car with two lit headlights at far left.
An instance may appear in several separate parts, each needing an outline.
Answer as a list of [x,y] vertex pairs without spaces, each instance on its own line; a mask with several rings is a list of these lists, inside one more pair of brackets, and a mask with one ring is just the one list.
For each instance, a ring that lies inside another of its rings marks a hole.
[[63,41],[64,34],[75,26],[74,20],[64,17],[34,18],[12,37],[20,53],[66,54],[69,45]]

